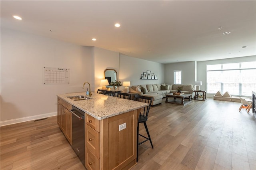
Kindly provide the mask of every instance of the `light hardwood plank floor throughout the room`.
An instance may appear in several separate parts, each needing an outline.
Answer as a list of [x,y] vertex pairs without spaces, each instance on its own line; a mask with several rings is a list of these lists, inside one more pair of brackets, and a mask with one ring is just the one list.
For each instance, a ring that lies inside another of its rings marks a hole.
[[[132,170],[256,169],[256,119],[240,103],[192,101],[150,108],[150,142],[139,146]],[[57,118],[1,127],[1,170],[85,169],[57,125]],[[146,134],[140,126],[140,134]]]

